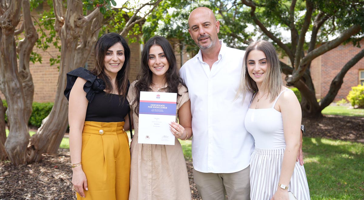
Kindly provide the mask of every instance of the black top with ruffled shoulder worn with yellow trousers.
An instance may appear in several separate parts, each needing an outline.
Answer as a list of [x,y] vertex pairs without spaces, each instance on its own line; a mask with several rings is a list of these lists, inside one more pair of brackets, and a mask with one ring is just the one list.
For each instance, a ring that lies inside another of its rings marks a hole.
[[77,77],[86,80],[83,90],[86,92],[88,100],[85,121],[98,122],[119,122],[125,121],[124,117],[129,113],[129,102],[121,95],[106,93],[105,83],[98,79],[85,68],[77,68],[67,73],[67,86],[64,90],[64,96],[67,100],[70,97],[71,89],[75,84]]

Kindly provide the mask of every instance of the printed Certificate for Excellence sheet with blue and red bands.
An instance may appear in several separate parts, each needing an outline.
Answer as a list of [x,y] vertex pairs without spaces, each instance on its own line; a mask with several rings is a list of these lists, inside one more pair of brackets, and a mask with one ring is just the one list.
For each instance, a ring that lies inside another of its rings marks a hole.
[[177,93],[140,92],[138,143],[174,145],[169,123],[176,120]]

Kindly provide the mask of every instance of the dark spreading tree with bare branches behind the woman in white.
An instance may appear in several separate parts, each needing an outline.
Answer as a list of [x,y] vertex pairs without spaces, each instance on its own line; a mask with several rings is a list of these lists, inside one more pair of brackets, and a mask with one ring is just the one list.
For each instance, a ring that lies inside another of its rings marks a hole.
[[[317,102],[315,97],[315,89],[313,86],[312,78],[309,72],[311,62],[316,57],[323,55],[324,53],[330,51],[333,48],[338,47],[345,41],[350,39],[352,36],[359,33],[362,27],[359,24],[353,24],[349,26],[344,31],[341,31],[340,35],[335,39],[321,44],[317,47],[317,37],[320,29],[325,23],[328,23],[329,19],[335,19],[337,11],[332,11],[331,13],[325,13],[317,9],[315,1],[306,0],[306,9],[304,20],[302,21],[301,28],[298,30],[295,20],[295,7],[296,0],[290,1],[291,5],[288,11],[288,17],[282,19],[287,27],[290,28],[291,32],[291,43],[290,46],[285,44],[280,38],[278,38],[274,32],[272,32],[272,27],[270,30],[264,25],[265,19],[258,19],[256,15],[257,4],[251,0],[241,1],[246,6],[250,7],[250,16],[252,17],[254,23],[258,25],[261,31],[272,39],[289,57],[292,67],[289,67],[283,63],[282,71],[288,75],[286,81],[289,85],[297,87],[302,95],[301,108],[302,116],[304,117],[321,117],[321,111],[327,107],[337,95],[341,84],[343,83],[343,78],[348,70],[353,67],[361,58],[363,58],[363,51],[360,51],[355,57],[348,61],[345,66],[341,69],[338,75],[333,79],[328,94]],[[259,5],[261,6],[261,5]],[[288,8],[288,7],[287,7]],[[313,15],[313,13],[317,13]],[[263,22],[262,22],[263,21]],[[310,29],[310,26],[312,28]],[[306,44],[305,37],[310,31],[310,42],[308,43],[308,51],[305,52],[304,46]],[[291,68],[291,69],[288,69]]]

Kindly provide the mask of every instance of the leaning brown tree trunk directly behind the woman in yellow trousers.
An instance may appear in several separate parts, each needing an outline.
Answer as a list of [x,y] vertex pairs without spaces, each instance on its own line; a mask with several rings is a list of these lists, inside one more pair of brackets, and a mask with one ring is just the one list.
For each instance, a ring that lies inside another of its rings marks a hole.
[[[79,1],[68,0],[67,13],[60,30],[61,61],[58,87],[51,113],[42,121],[37,133],[32,136],[28,148],[29,161],[39,161],[41,153],[56,153],[68,125],[68,101],[64,97],[66,74],[85,65],[91,54],[98,33],[101,13],[93,13],[95,19],[83,16],[83,6]],[[91,15],[91,14],[90,14]]]

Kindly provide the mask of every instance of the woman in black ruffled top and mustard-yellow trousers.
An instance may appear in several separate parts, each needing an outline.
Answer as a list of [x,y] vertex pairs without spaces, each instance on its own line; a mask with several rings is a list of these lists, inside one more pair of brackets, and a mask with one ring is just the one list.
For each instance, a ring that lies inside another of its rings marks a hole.
[[122,36],[108,33],[97,41],[94,54],[94,70],[67,73],[72,184],[77,199],[127,200],[130,49]]

